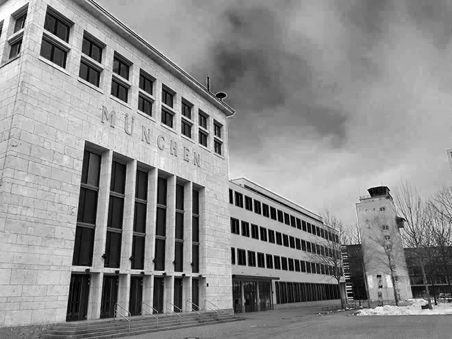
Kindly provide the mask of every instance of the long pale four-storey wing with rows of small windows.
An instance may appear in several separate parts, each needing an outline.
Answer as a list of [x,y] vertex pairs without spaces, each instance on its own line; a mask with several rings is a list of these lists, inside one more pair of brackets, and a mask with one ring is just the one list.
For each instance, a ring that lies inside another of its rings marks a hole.
[[338,242],[321,216],[249,179],[229,183],[232,297],[235,312],[331,304],[338,283],[328,273]]

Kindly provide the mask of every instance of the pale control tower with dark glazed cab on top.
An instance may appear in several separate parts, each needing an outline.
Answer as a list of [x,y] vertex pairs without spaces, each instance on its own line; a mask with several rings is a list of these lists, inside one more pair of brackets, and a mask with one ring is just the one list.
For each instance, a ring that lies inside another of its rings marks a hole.
[[356,203],[369,297],[379,301],[394,300],[394,289],[399,300],[412,297],[399,231],[403,218],[389,191],[386,186],[369,188],[370,195]]

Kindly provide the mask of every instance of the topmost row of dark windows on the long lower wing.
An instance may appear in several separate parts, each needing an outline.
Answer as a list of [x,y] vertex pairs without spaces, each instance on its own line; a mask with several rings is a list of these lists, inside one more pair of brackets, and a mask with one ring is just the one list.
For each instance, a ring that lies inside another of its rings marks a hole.
[[236,206],[239,208],[245,208],[245,210],[249,210],[251,212],[254,210],[256,214],[261,214],[267,218],[279,221],[280,223],[284,223],[297,229],[302,229],[303,231],[313,234],[314,236],[319,236],[329,241],[339,242],[339,237],[334,232],[327,231],[327,229],[323,229],[322,227],[318,227],[307,221],[302,221],[300,218],[292,216],[291,214],[281,210],[277,210],[273,206],[269,206],[266,203],[262,203],[261,201],[248,197],[247,195],[244,196],[240,192],[229,189],[229,203],[234,204],[234,200]]

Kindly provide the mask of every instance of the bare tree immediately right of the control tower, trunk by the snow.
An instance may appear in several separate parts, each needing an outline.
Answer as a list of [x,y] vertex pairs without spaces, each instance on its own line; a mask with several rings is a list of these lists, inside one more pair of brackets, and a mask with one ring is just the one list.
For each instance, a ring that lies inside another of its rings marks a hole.
[[420,267],[423,275],[423,285],[427,294],[429,309],[431,310],[431,298],[429,291],[429,282],[427,279],[426,268],[431,263],[431,223],[427,218],[429,210],[426,208],[423,199],[416,187],[412,187],[405,181],[402,181],[397,187],[395,201],[400,216],[405,219],[403,231],[401,231],[403,247],[414,249],[412,251],[412,260],[416,266]]

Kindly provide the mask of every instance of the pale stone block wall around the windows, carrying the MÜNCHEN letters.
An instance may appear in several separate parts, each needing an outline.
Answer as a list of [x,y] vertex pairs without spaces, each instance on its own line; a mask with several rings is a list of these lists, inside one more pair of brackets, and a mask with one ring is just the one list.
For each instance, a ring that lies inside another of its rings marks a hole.
[[[22,34],[21,53],[10,60],[13,14],[24,6],[25,27],[16,33]],[[40,56],[47,6],[72,23],[68,42],[61,42],[65,68]],[[71,271],[78,269],[72,257],[86,145],[103,152],[103,161],[123,158],[127,171],[145,164],[203,188],[201,284],[209,286],[206,299],[231,308],[227,115],[234,111],[206,99],[197,84],[91,1],[3,0],[2,21],[0,325],[65,320]],[[99,87],[78,76],[84,32],[104,45]],[[115,52],[131,62],[127,103],[110,95]],[[152,116],[136,109],[140,69],[155,79]],[[173,128],[160,122],[162,84],[175,93]],[[192,103],[192,138],[180,133],[182,97]],[[198,109],[209,115],[208,147],[198,143]],[[223,155],[213,149],[214,120],[223,125]]]

